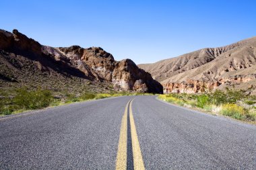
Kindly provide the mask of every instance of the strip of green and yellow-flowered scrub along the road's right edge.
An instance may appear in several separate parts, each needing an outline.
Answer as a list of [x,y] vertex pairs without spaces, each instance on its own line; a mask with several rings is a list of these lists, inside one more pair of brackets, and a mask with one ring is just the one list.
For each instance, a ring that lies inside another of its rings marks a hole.
[[256,122],[256,96],[247,95],[241,90],[216,90],[203,94],[171,93],[159,95],[158,98],[187,108]]

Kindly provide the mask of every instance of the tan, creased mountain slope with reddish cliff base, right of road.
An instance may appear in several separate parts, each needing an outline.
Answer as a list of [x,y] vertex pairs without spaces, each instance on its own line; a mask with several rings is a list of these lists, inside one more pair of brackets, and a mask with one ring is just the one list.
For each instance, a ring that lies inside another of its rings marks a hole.
[[200,93],[234,87],[256,95],[256,37],[138,67],[160,81],[164,93]]

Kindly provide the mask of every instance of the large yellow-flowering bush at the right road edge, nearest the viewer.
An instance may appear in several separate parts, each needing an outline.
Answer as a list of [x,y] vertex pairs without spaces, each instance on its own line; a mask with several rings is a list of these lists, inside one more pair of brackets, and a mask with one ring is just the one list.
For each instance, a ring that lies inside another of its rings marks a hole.
[[230,116],[239,120],[246,118],[246,112],[244,108],[233,103],[227,103],[222,105],[222,110],[220,112],[224,116]]

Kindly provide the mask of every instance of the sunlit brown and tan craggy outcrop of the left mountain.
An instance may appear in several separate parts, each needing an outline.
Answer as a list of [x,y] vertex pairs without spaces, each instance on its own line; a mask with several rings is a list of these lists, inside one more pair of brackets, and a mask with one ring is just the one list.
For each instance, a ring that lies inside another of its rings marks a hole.
[[42,51],[51,54],[56,60],[69,58],[72,65],[87,77],[110,81],[117,90],[162,93],[162,85],[152,79],[150,73],[139,69],[132,60],[115,61],[113,55],[102,48],[42,46]]

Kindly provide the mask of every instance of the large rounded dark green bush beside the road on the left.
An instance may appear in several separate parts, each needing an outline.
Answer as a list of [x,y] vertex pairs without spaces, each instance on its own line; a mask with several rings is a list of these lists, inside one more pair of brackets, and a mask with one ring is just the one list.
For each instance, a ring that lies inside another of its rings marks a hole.
[[38,89],[28,91],[27,89],[18,89],[13,97],[13,107],[15,110],[22,109],[40,109],[49,106],[53,99],[51,91]]

